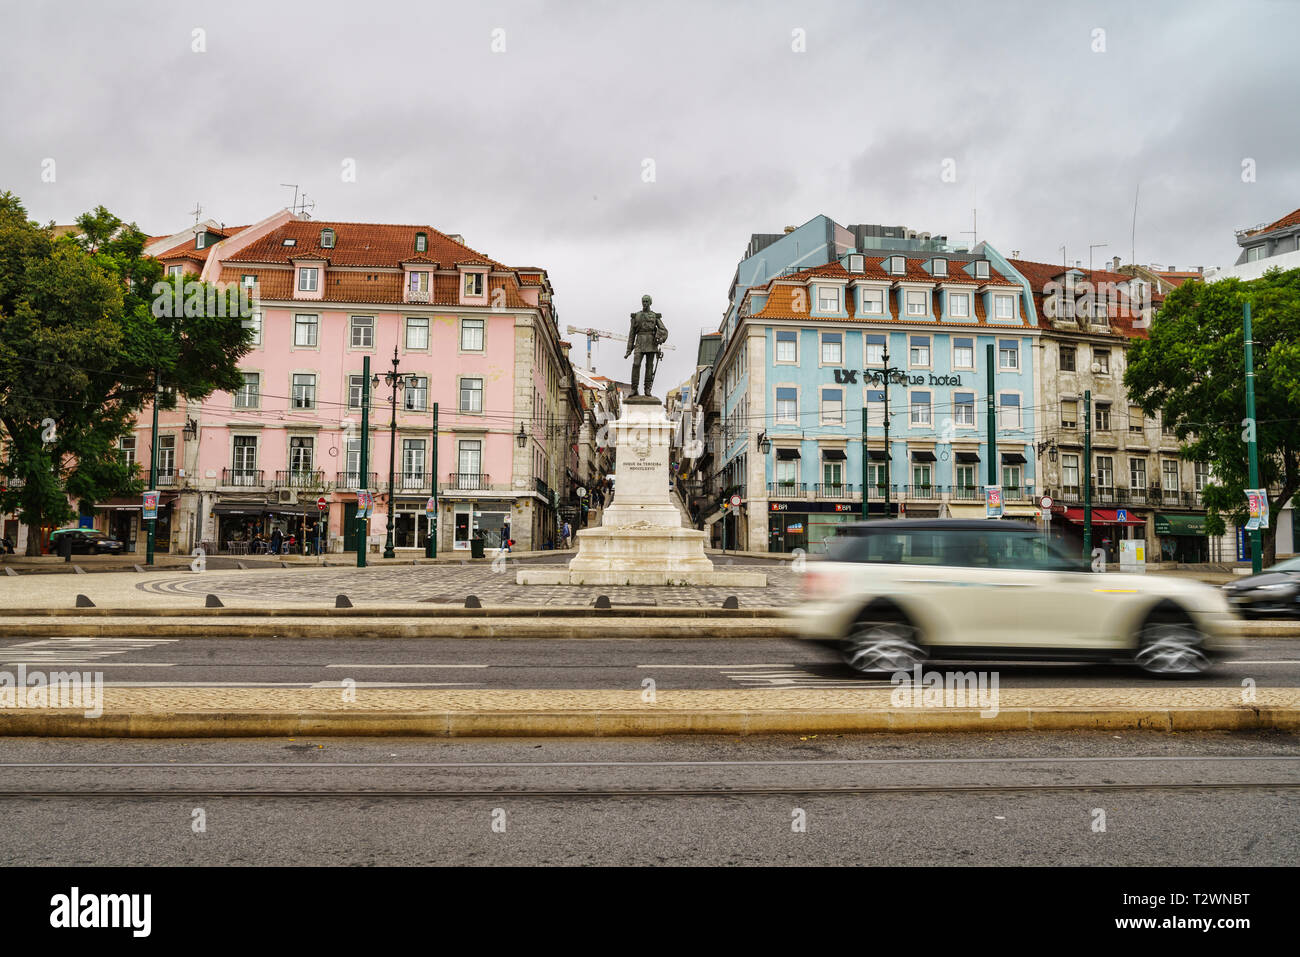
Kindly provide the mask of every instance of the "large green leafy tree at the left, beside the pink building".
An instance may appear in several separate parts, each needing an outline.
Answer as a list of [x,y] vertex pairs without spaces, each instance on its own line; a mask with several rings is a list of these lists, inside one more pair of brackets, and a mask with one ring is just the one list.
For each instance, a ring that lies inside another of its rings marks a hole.
[[[77,222],[81,235],[55,239],[17,196],[0,194],[0,510],[31,529],[29,555],[39,551],[36,529],[73,516],[69,499],[88,510],[143,489],[118,439],[155,382],[160,408],[233,391],[250,345],[238,317],[172,303],[134,224],[104,207]],[[196,287],[205,302],[207,287]]]

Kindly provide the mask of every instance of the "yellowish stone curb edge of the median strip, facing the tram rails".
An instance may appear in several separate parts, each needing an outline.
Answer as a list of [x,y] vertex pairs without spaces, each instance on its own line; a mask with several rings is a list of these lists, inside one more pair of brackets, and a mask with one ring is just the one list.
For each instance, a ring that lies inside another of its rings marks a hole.
[[25,737],[634,737],[958,731],[1296,731],[1296,707],[1024,707],[824,711],[391,711],[0,713],[0,733]]

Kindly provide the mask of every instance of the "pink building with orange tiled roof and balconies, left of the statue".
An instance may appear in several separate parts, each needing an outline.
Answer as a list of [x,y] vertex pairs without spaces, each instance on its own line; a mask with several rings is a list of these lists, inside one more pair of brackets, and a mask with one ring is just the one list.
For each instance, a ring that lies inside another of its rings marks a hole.
[[[580,407],[543,269],[503,265],[430,226],[289,211],[234,229],[200,224],[147,251],[169,273],[242,283],[255,299],[244,387],[160,413],[160,550],[239,554],[278,528],[350,551],[364,488],[380,512],[370,549],[384,545],[391,497],[394,544],[417,554],[434,485],[439,550],[468,550],[476,534],[495,547],[507,524],[516,547],[552,540],[558,506],[578,484]],[[150,416],[124,443],[146,477]],[[104,503],[99,519],[143,551],[136,501]]]

